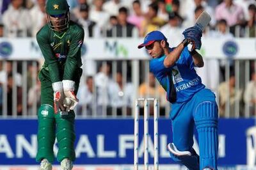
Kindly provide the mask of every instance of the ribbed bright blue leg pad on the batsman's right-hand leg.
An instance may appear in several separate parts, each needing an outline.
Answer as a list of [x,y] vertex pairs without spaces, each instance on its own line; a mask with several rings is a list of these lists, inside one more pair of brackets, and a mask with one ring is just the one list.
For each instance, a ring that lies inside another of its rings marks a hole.
[[217,169],[218,107],[215,102],[199,104],[195,112],[200,148],[200,169]]

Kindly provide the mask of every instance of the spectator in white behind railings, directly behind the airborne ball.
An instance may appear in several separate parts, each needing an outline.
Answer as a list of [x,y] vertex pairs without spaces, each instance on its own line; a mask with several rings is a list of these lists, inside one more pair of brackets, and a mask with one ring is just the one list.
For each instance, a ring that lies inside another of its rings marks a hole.
[[124,84],[121,72],[116,73],[116,81],[109,86],[109,100],[111,107],[117,109],[117,115],[124,115],[122,107],[125,107],[127,115],[131,115],[132,104],[135,98],[134,87],[131,82]]

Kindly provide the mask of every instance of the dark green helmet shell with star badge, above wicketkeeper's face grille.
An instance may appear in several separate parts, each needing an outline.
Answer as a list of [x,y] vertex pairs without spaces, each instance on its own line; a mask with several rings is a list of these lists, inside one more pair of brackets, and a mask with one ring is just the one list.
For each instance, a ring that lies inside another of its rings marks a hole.
[[46,13],[49,15],[60,15],[68,11],[67,0],[47,0]]

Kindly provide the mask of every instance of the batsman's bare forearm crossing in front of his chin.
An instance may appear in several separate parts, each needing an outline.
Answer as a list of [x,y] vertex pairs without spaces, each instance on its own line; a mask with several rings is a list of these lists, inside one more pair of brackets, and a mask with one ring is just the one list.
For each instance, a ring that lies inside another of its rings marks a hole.
[[164,59],[164,66],[169,68],[175,64],[175,62],[180,58],[180,54],[182,53],[182,50],[184,47],[188,45],[190,41],[185,38],[175,49],[170,52],[166,58]]

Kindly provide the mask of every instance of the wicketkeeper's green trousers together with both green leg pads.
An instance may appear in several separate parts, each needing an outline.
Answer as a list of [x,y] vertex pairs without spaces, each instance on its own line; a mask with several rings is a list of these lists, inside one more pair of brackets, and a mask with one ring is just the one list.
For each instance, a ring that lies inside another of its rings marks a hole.
[[[76,82],[75,93],[79,88],[79,80],[82,69],[77,70],[76,77],[72,81]],[[36,161],[40,162],[47,158],[49,162],[54,162],[53,145],[55,138],[58,141],[57,160],[61,162],[64,158],[72,161],[76,159],[74,141],[76,139],[74,130],[74,111],[67,115],[54,114],[54,101],[52,82],[49,71],[44,68],[39,73],[41,81],[41,107],[38,109],[38,151]]]

